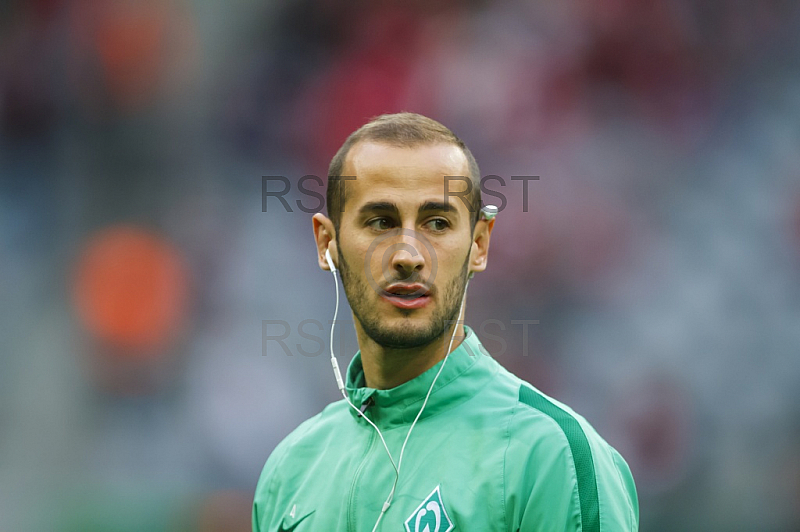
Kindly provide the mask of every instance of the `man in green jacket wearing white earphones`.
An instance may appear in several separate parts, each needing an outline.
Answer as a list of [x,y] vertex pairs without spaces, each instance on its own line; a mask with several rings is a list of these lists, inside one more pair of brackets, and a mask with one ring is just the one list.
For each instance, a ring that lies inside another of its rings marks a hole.
[[463,142],[423,116],[384,115],[350,135],[329,175],[317,258],[341,273],[360,351],[345,399],[267,460],[253,530],[637,530],[622,457],[463,325],[495,223]]

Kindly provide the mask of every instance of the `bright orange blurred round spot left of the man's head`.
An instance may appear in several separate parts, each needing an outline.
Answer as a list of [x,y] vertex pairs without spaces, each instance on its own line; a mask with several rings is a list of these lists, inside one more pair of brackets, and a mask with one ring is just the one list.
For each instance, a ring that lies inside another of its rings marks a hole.
[[186,317],[189,275],[180,252],[135,226],[93,235],[77,262],[73,298],[95,339],[134,357],[168,346]]

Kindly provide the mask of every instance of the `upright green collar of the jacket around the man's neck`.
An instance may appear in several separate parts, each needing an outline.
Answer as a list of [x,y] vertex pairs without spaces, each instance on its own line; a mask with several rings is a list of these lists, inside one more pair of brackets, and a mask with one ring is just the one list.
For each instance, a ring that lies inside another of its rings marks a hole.
[[[433,416],[471,398],[489,382],[499,368],[473,330],[466,326],[464,329],[466,337],[447,356],[447,364],[436,381],[420,419]],[[381,428],[409,424],[417,416],[431,382],[443,363],[444,360],[440,361],[425,373],[400,386],[376,390],[365,386],[359,351],[347,368],[347,394],[353,405],[364,409],[370,419]],[[360,417],[352,408],[350,413],[356,418]],[[366,423],[361,419],[359,421]]]

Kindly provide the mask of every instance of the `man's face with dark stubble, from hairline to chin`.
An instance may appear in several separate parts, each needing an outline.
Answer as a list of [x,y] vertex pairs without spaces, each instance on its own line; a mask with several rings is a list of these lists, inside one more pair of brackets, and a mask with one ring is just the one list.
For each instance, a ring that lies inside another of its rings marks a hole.
[[[399,148],[361,142],[348,154],[337,234],[347,299],[364,332],[384,347],[441,338],[458,319],[472,246],[472,213],[453,193],[468,176],[450,144]],[[448,209],[449,206],[449,209]]]

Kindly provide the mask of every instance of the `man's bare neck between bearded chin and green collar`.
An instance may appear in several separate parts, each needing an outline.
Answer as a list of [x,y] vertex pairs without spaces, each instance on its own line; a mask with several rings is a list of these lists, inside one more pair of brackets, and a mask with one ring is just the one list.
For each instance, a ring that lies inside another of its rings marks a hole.
[[[355,320],[356,335],[361,350],[361,364],[364,368],[367,387],[378,390],[394,388],[422,375],[438,364],[449,352],[455,350],[466,336],[462,325],[463,313],[459,317],[459,321],[460,323],[454,323],[445,330],[441,337],[427,345],[414,348],[392,348],[375,343],[360,327],[358,320]],[[453,345],[448,351],[450,339],[456,328],[458,328],[458,332],[456,332]]]

